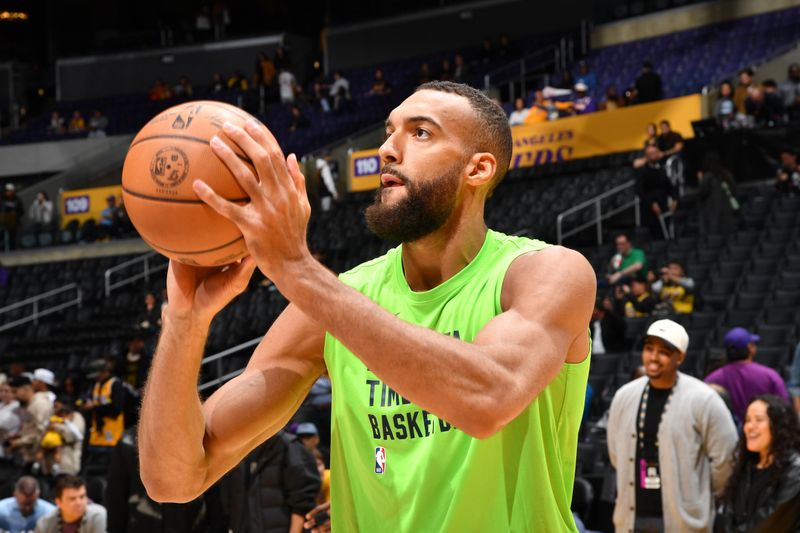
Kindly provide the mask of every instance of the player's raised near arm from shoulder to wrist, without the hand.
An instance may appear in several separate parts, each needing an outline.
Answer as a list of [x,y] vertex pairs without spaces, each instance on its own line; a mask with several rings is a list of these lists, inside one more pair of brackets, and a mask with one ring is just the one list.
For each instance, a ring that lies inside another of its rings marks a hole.
[[504,312],[473,343],[397,318],[318,264],[308,262],[282,281],[278,287],[295,305],[400,395],[478,438],[514,419],[565,361],[582,361],[589,350],[595,276],[565,248],[512,263]]

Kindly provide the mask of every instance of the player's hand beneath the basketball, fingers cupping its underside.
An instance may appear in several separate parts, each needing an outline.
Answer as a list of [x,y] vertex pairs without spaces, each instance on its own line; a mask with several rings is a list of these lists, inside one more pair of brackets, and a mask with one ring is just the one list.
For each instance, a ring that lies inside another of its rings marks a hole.
[[195,267],[173,259],[167,272],[166,312],[210,324],[214,316],[247,288],[256,264],[251,257],[218,267]]

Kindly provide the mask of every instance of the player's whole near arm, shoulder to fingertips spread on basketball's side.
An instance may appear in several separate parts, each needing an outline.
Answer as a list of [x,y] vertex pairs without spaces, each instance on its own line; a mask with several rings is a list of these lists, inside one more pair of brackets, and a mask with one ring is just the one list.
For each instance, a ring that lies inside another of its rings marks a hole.
[[[251,201],[237,206],[200,181],[195,192],[239,227],[259,268],[284,296],[404,398],[470,435],[488,437],[529,405],[565,361],[585,358],[595,276],[580,254],[554,247],[515,261],[503,285],[504,312],[473,343],[409,324],[311,257],[305,237],[310,209],[296,158],[284,159],[262,125],[224,129],[260,179],[223,143],[212,140],[211,146]],[[366,323],[369,329],[353,327]]]

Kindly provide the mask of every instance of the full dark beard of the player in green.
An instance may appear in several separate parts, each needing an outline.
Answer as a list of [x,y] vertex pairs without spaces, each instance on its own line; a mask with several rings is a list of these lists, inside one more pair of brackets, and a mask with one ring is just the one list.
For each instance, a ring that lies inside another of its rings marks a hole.
[[438,180],[418,182],[384,167],[383,174],[403,181],[406,196],[393,204],[384,203],[386,193],[381,186],[375,201],[364,212],[370,231],[387,241],[414,242],[441,228],[455,210],[462,168],[463,162],[459,161]]

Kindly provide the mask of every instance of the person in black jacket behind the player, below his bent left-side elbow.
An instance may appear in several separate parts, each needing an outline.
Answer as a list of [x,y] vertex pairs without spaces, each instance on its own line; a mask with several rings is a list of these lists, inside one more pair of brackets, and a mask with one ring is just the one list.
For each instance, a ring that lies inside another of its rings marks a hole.
[[314,455],[285,431],[250,452],[226,482],[237,533],[302,531],[321,487]]

